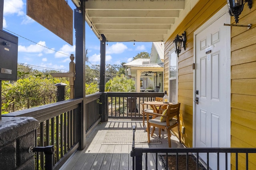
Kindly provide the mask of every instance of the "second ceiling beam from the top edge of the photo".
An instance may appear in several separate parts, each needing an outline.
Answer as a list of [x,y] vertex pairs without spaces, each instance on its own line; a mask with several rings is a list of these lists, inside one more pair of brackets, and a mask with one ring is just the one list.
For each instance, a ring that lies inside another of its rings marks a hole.
[[86,10],[90,18],[178,18],[179,10]]

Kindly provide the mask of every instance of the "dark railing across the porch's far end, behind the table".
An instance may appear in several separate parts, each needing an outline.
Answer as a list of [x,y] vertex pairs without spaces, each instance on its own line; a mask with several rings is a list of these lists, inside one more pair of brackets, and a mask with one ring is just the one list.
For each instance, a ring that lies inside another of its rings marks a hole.
[[[107,92],[109,118],[142,118],[144,102],[151,102],[164,93],[155,92]],[[148,107],[148,106],[146,106]]]

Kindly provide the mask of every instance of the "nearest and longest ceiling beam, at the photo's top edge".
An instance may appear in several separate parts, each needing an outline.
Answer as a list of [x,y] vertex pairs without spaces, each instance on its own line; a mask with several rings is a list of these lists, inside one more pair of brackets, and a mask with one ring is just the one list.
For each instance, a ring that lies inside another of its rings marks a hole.
[[90,10],[183,10],[182,1],[86,1]]

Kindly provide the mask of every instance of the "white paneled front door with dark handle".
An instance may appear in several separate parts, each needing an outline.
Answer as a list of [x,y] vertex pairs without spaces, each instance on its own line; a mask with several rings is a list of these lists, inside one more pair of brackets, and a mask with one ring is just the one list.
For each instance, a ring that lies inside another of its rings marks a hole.
[[[194,100],[198,100],[194,102],[194,146],[198,148],[230,147],[230,27],[223,25],[228,18],[228,14],[219,14],[194,34]],[[199,157],[207,162],[206,153]],[[217,169],[217,154],[209,154],[209,165]],[[222,168],[225,154],[220,154]]]

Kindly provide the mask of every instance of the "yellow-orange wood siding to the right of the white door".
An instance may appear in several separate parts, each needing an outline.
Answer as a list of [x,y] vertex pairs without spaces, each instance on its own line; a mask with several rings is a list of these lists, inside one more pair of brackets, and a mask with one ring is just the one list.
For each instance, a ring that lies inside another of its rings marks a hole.
[[[231,18],[231,23],[234,18]],[[244,6],[239,24],[231,27],[231,147],[256,147],[256,4]],[[236,168],[235,155],[231,169]],[[245,154],[238,156],[238,169],[245,169]],[[256,169],[256,156],[249,154],[249,167]]]

